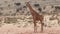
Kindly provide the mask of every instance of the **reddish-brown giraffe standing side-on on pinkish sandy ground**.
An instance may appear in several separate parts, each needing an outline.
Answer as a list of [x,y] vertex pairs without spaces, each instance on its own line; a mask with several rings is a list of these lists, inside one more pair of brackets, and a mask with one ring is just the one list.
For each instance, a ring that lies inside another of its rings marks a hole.
[[44,19],[44,16],[43,15],[39,15],[30,5],[29,2],[27,2],[26,4],[31,12],[31,15],[33,17],[33,23],[34,23],[34,32],[37,32],[37,22],[36,21],[40,21],[40,24],[41,24],[41,32],[43,32],[43,19]]

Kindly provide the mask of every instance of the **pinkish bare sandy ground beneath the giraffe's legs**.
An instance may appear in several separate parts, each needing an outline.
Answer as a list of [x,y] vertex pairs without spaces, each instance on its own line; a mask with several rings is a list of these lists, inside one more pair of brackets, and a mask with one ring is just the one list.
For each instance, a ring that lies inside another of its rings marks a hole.
[[37,33],[33,32],[33,28],[31,27],[16,27],[12,24],[6,24],[0,27],[0,34],[60,34],[60,27],[44,27],[44,32],[40,32],[40,28],[38,28]]

